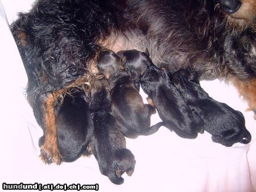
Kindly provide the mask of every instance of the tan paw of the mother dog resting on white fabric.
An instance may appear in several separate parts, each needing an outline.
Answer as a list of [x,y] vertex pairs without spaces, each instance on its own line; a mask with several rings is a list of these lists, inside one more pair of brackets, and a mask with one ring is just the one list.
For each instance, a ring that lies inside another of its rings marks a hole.
[[62,156],[58,148],[44,144],[40,147],[40,152],[40,158],[45,164],[51,164],[52,162],[56,165],[61,164]]

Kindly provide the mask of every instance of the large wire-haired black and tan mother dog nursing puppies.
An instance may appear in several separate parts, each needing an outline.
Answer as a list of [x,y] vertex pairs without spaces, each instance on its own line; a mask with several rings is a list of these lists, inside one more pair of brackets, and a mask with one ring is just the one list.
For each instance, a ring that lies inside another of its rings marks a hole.
[[44,131],[42,160],[61,161],[56,101],[67,86],[82,84],[87,70],[97,73],[102,48],[147,48],[171,72],[192,66],[202,79],[228,76],[256,110],[255,19],[253,0],[36,1],[11,31],[28,76],[27,98]]

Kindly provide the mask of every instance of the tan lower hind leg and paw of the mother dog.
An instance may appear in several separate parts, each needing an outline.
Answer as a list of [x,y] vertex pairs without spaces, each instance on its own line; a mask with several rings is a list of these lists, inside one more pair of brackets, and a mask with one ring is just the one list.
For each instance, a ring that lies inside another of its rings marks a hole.
[[44,103],[44,143],[40,147],[40,157],[46,164],[54,162],[59,165],[62,157],[57,146],[57,128],[54,107],[55,96],[51,94]]

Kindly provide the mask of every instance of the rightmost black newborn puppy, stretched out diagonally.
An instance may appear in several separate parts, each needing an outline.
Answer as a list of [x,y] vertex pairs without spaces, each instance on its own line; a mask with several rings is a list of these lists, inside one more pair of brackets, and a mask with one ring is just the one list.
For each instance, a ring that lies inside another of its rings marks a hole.
[[242,113],[209,97],[200,86],[197,73],[191,69],[180,69],[172,75],[172,82],[188,106],[201,116],[204,129],[212,135],[214,142],[227,147],[237,142],[250,142],[251,135],[245,128]]

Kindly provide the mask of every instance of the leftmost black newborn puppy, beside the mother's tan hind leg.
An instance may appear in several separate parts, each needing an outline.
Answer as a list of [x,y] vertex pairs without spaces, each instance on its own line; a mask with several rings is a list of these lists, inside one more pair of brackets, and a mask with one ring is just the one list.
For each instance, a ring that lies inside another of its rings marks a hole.
[[83,91],[65,95],[60,106],[55,108],[57,144],[63,160],[75,161],[82,153],[90,155],[92,122],[89,105]]

